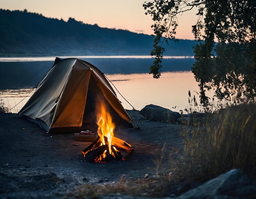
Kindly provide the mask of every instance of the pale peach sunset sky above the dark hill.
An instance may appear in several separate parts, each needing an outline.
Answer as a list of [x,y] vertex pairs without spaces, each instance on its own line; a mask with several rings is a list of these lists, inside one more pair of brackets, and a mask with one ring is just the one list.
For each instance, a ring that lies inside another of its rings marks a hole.
[[[47,18],[74,18],[99,27],[125,29],[136,33],[153,34],[153,21],[145,15],[145,0],[0,0],[0,8],[8,10],[27,9]],[[191,26],[196,22],[195,11],[179,18],[176,38],[194,39]]]

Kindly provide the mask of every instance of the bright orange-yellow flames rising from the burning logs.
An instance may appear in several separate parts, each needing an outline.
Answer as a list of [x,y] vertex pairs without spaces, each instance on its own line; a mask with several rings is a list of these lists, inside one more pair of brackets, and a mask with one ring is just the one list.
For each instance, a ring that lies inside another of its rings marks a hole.
[[115,154],[112,152],[111,148],[115,124],[112,123],[112,117],[110,113],[106,110],[106,106],[102,101],[99,103],[97,121],[98,135],[100,137],[101,145],[108,145],[108,150],[105,150],[101,157],[98,157],[95,161],[101,161],[105,159],[107,154],[111,154],[113,157],[115,157]]

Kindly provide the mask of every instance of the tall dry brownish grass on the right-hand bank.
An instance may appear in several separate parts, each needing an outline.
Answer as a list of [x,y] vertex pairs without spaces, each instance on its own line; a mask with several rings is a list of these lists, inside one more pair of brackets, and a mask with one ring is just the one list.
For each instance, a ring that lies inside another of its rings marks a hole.
[[185,131],[184,157],[198,176],[216,177],[230,169],[256,177],[256,105],[241,104],[209,114],[195,125],[192,138]]

